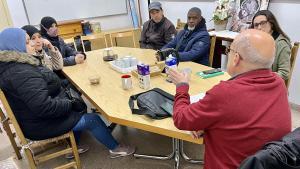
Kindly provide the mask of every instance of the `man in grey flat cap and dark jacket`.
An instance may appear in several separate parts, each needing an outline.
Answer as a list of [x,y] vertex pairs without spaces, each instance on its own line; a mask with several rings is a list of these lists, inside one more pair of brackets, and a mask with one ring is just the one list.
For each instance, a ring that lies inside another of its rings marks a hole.
[[149,13],[151,19],[143,25],[140,46],[158,50],[174,38],[176,29],[172,22],[164,16],[160,2],[151,2]]

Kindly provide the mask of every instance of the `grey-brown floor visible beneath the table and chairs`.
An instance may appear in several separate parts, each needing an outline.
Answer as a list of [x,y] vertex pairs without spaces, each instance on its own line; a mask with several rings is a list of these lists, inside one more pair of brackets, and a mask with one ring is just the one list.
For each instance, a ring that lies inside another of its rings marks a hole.
[[[293,110],[293,128],[300,127],[300,112]],[[157,134],[144,132],[123,126],[117,126],[113,132],[115,138],[123,143],[129,143],[137,146],[138,153],[147,154],[168,154],[171,152],[171,139]],[[92,147],[87,153],[80,156],[83,168],[85,169],[172,169],[174,161],[135,159],[134,157],[123,157],[110,159],[108,150],[89,135],[84,133],[81,144],[88,144]],[[187,143],[185,144],[186,153],[193,158],[202,158],[203,146]],[[9,140],[4,133],[0,134],[0,161],[10,158],[14,155]],[[26,160],[15,160],[19,168],[26,169]],[[52,160],[40,166],[39,168],[53,168],[57,164],[67,162],[64,157]],[[183,160],[180,161],[182,169],[202,169],[199,164],[189,164]]]

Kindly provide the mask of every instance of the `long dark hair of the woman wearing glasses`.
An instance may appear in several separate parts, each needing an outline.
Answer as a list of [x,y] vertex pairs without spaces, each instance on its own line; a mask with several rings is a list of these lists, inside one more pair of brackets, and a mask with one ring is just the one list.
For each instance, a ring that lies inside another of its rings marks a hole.
[[279,24],[277,22],[277,19],[275,18],[273,13],[269,10],[258,11],[252,18],[252,23],[251,23],[250,28],[254,28],[254,19],[260,15],[263,15],[267,18],[267,21],[271,23],[271,27],[274,32],[281,34],[282,36],[284,36],[286,39],[288,39],[290,41],[290,38],[282,31],[281,27],[279,26]]

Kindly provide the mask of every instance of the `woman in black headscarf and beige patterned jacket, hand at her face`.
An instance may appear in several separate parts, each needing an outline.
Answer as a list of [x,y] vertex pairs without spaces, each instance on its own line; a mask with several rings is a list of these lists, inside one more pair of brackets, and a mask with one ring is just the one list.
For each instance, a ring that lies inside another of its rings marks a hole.
[[[53,46],[47,39],[42,38],[40,31],[32,26],[25,25],[22,27],[29,35],[30,40],[33,42],[36,57],[40,64],[46,66],[50,70],[61,70],[63,68],[63,58],[57,47]],[[44,50],[46,49],[49,55]]]

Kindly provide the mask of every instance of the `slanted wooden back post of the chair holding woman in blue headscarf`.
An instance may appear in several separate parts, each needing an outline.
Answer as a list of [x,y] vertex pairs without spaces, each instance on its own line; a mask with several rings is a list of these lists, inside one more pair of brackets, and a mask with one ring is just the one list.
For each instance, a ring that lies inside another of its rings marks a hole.
[[0,100],[3,104],[4,109],[6,110],[7,117],[10,119],[11,123],[13,124],[13,126],[16,130],[16,133],[21,141],[21,144],[26,145],[28,143],[28,141],[26,140],[26,138],[19,126],[19,123],[18,123],[14,113],[12,112],[11,107],[9,106],[8,101],[1,89],[0,89]]

